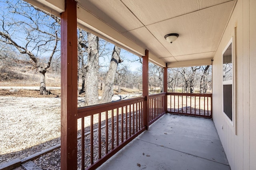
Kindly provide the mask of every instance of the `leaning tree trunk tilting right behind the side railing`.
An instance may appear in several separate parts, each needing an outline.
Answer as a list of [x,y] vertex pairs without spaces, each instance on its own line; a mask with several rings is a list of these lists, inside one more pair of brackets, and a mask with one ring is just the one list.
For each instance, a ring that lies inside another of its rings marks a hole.
[[118,66],[118,63],[122,62],[122,60],[120,59],[120,51],[121,51],[121,48],[115,45],[112,53],[112,58],[110,61],[110,66],[109,66],[106,80],[105,80],[104,92],[102,94],[100,103],[111,102],[111,99],[114,95],[113,88],[114,88],[114,79],[117,71],[117,66]]

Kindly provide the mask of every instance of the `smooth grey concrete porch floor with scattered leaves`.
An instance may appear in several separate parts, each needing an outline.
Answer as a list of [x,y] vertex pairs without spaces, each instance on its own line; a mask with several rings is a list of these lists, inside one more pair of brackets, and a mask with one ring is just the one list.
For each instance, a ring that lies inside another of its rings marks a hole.
[[165,114],[98,170],[230,170],[211,119]]

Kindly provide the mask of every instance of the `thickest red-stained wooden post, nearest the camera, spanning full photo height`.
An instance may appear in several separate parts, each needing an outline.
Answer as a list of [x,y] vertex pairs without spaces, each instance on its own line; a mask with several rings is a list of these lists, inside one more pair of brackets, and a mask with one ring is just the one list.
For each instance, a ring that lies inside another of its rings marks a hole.
[[77,169],[76,1],[65,0],[61,14],[61,169]]

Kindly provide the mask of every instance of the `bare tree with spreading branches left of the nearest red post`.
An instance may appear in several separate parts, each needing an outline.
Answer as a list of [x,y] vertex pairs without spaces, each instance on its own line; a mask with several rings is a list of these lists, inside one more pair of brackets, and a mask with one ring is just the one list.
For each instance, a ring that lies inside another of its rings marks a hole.
[[[40,73],[40,94],[48,94],[45,73],[56,54],[60,40],[60,20],[48,12],[18,0],[6,2],[8,15],[2,12],[0,19],[0,41],[14,46],[21,54],[33,61]],[[11,15],[12,14],[12,15]],[[48,56],[48,61],[42,57]]]

